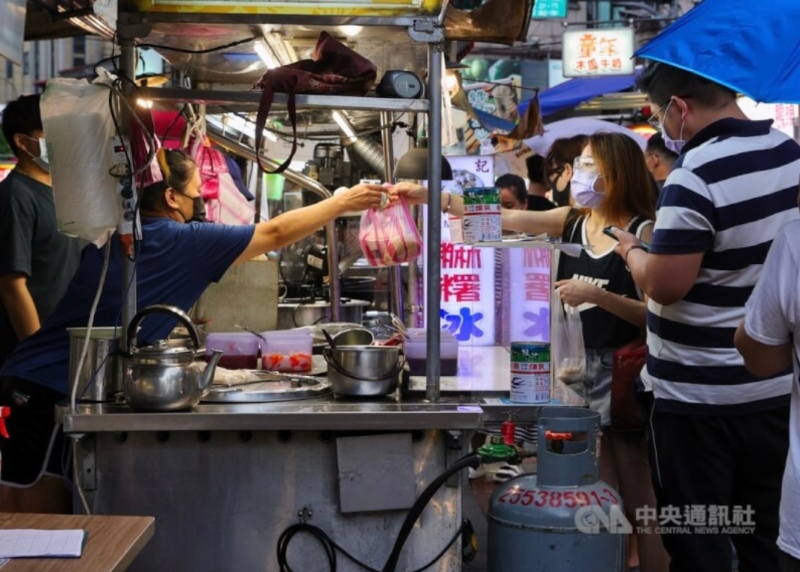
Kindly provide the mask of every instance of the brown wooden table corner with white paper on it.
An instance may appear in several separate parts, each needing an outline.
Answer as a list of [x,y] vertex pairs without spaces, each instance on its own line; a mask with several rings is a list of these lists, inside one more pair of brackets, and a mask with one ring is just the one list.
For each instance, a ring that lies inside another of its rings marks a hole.
[[117,572],[126,570],[153,538],[151,516],[0,513],[0,529],[82,529],[89,533],[80,558],[17,558],[0,572]]

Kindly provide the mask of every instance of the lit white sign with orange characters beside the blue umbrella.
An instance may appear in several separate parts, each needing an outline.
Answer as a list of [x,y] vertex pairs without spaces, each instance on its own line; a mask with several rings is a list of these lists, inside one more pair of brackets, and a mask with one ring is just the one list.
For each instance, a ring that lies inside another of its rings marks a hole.
[[567,30],[563,44],[564,77],[633,73],[633,28]]

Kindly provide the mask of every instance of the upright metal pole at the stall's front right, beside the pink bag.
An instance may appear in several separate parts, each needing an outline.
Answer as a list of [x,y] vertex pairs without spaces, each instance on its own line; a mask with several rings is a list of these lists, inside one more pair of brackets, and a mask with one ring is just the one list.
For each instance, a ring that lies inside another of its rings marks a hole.
[[425,397],[439,401],[439,376],[442,364],[439,340],[441,329],[440,282],[442,276],[442,51],[444,44],[428,46],[428,236],[425,250],[425,280],[428,284],[425,300],[428,359],[425,367]]

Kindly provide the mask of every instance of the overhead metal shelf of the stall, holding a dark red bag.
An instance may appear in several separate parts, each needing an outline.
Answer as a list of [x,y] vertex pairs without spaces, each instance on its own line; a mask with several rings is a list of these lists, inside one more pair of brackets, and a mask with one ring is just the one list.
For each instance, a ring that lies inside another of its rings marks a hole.
[[[181,89],[143,87],[137,97],[173,103],[204,103],[209,106],[252,106],[258,109],[260,91],[220,91],[210,89]],[[286,107],[287,96],[275,94],[273,109]],[[298,108],[352,109],[358,111],[403,111],[424,113],[430,108],[427,99],[389,99],[382,97],[347,97],[342,95],[297,95]]]

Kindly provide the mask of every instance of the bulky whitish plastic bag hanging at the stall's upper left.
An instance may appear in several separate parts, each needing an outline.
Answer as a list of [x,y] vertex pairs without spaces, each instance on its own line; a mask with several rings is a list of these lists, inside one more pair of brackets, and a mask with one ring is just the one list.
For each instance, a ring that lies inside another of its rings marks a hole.
[[121,216],[112,166],[111,77],[47,82],[41,100],[58,230],[103,246]]

